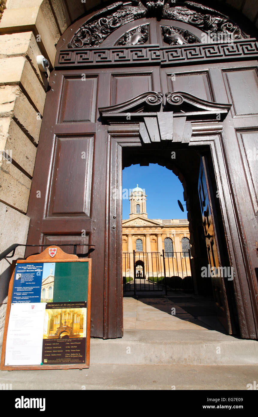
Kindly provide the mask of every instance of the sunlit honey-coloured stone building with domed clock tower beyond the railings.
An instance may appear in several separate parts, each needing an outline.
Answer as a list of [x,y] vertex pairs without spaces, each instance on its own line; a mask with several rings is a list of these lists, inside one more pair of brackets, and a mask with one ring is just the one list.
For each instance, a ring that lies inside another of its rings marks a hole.
[[190,275],[188,220],[148,219],[146,197],[145,190],[138,187],[138,184],[129,196],[129,219],[122,222],[123,276],[129,274],[133,276],[133,251],[135,251],[135,261],[142,260],[144,263],[144,268],[136,267],[136,273],[144,272],[145,277],[153,273],[163,276],[163,256],[160,256],[163,250],[166,275],[180,276],[184,271],[185,276],[185,269]]

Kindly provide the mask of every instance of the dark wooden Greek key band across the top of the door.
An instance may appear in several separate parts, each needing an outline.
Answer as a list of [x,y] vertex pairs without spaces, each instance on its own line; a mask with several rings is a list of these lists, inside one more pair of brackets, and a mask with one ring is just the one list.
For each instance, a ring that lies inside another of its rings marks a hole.
[[160,65],[199,63],[201,60],[232,60],[258,58],[258,42],[241,39],[233,44],[183,44],[160,48],[158,45],[140,47],[82,48],[61,50],[55,67],[95,65],[135,65],[160,63]]

